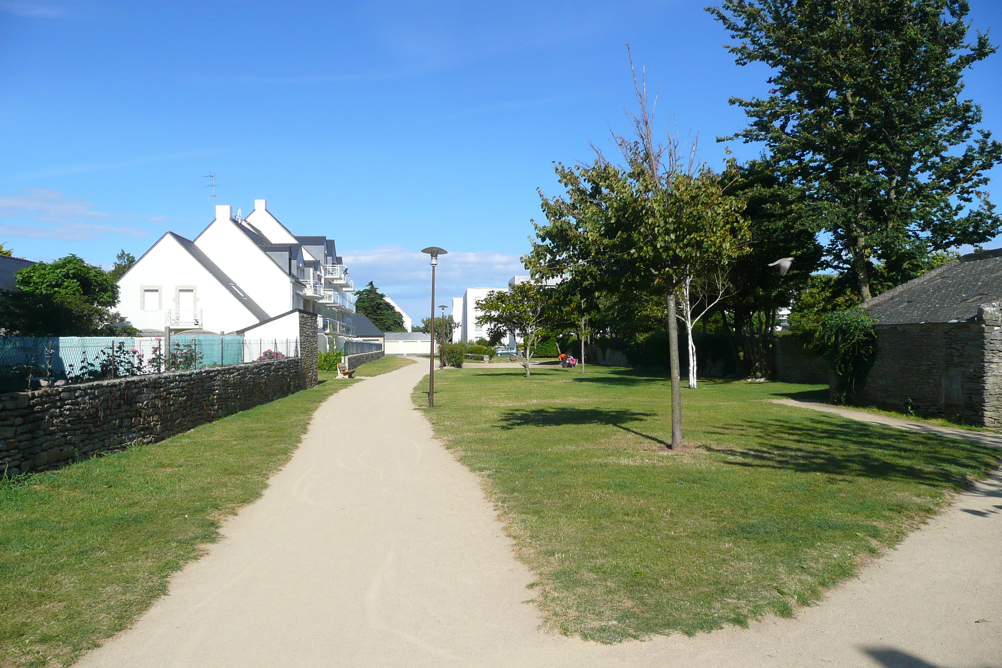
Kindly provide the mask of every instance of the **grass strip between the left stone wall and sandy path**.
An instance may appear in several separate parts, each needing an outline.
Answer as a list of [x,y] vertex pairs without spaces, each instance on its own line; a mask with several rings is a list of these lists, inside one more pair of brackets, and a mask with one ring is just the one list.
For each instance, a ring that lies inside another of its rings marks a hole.
[[[150,446],[0,484],[0,666],[124,629],[292,457],[331,381]],[[267,426],[267,429],[264,428]]]

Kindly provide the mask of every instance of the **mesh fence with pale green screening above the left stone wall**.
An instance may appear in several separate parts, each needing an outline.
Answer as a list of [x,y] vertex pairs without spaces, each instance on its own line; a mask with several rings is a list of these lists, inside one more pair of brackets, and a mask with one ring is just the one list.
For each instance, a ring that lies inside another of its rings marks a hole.
[[168,347],[161,337],[6,337],[0,338],[0,393],[299,355],[299,339],[177,335]]

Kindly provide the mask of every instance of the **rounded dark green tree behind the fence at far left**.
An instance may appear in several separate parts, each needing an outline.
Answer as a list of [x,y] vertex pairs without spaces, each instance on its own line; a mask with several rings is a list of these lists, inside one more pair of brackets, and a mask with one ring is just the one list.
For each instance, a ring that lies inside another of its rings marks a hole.
[[[0,328],[22,337],[115,336],[123,332],[118,286],[76,255],[18,270],[18,291],[0,290]],[[134,331],[127,327],[127,331]]]

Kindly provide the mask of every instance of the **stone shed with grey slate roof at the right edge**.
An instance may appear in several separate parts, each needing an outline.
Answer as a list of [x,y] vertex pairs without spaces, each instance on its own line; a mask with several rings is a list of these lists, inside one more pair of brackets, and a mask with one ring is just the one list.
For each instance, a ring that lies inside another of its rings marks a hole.
[[863,304],[877,358],[853,402],[1002,427],[1002,249],[973,252]]

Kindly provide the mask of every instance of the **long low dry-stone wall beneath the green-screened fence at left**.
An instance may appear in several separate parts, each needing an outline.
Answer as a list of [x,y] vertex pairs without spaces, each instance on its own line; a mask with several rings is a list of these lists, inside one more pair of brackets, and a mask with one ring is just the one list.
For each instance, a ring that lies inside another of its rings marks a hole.
[[[316,340],[316,332],[314,332]],[[124,450],[317,385],[304,361],[136,376],[0,395],[0,477]]]

